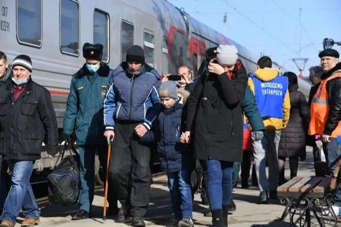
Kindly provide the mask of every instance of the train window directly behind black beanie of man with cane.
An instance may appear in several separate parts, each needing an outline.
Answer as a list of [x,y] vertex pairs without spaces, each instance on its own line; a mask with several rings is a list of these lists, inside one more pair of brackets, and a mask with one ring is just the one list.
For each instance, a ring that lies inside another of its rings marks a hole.
[[126,61],[128,48],[134,44],[134,26],[131,23],[122,21],[121,25],[121,60]]

